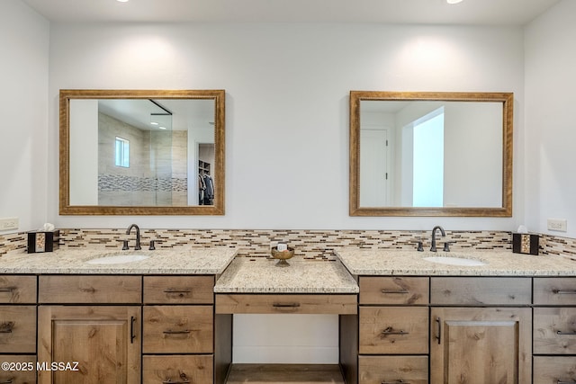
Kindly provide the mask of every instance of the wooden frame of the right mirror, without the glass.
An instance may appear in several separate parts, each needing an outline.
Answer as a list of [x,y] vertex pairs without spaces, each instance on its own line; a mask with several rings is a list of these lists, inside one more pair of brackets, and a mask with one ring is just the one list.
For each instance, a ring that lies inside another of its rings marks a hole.
[[[502,206],[498,208],[360,206],[360,102],[363,100],[502,103]],[[349,216],[512,217],[513,105],[514,93],[350,91]]]

